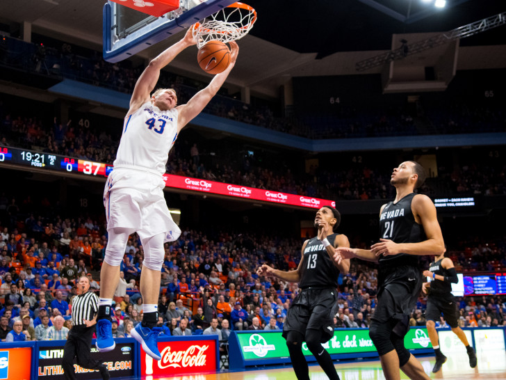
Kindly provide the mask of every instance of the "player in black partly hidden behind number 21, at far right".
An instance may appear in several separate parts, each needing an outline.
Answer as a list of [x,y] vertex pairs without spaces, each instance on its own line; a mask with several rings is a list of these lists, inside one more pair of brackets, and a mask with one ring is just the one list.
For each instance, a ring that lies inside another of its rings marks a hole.
[[430,283],[423,283],[422,286],[422,291],[425,294],[429,294],[425,318],[427,319],[427,333],[429,333],[430,342],[436,353],[436,364],[434,364],[432,372],[441,370],[441,365],[446,362],[446,356],[441,353],[441,349],[439,348],[439,338],[436,332],[436,324],[434,323],[434,321],[439,321],[441,314],[443,314],[455,335],[466,346],[469,365],[471,365],[471,368],[476,367],[475,350],[469,345],[466,334],[459,327],[458,303],[451,293],[451,284],[459,282],[452,260],[445,258],[445,254],[443,253],[430,264],[428,271],[423,271],[423,276],[432,278]]

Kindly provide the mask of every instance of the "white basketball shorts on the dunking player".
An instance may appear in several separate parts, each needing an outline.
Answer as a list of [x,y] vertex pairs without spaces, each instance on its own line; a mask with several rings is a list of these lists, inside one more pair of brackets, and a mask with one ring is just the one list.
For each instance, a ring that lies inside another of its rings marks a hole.
[[173,242],[181,230],[170,216],[163,196],[161,175],[130,168],[115,168],[104,189],[107,229],[126,228],[140,239],[165,233],[164,242]]

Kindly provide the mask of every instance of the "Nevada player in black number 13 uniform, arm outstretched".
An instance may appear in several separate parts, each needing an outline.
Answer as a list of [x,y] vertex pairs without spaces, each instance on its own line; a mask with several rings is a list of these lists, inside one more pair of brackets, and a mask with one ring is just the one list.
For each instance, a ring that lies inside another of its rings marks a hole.
[[302,245],[302,260],[295,271],[279,271],[263,264],[257,270],[260,276],[277,277],[291,283],[299,283],[300,293],[295,297],[283,326],[283,337],[299,380],[309,380],[309,367],[302,353],[302,342],[316,358],[331,380],[339,379],[329,353],[322,347],[334,336],[333,317],[337,307],[337,279],[339,273],[347,274],[350,261],[336,264],[332,259],[334,247],[349,247],[348,237],[334,233],[341,215],[330,206],[316,212],[315,227],[318,236]]

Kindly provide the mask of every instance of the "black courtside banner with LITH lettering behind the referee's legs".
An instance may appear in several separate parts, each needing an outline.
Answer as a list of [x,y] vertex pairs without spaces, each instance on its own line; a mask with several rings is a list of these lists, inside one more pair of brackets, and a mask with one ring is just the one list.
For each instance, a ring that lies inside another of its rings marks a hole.
[[[60,345],[44,345],[40,342],[38,349],[38,379],[57,380],[65,379],[62,367],[63,346],[65,341],[61,341]],[[135,356],[135,343],[116,341],[116,348],[113,351],[99,352],[95,344],[90,348],[91,358],[101,361],[107,365],[111,379],[119,377],[134,377],[136,370],[133,368],[133,360]],[[100,374],[95,370],[86,370],[74,361],[74,372],[78,379],[98,379]]]

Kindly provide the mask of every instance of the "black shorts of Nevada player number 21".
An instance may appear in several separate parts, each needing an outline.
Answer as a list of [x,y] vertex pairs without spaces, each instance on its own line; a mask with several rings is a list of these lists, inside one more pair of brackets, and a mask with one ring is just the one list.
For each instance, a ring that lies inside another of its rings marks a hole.
[[390,319],[407,322],[422,290],[422,273],[420,268],[411,265],[379,269],[377,305],[373,319],[379,323]]

